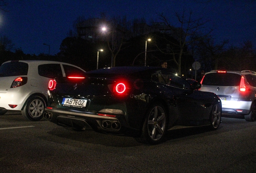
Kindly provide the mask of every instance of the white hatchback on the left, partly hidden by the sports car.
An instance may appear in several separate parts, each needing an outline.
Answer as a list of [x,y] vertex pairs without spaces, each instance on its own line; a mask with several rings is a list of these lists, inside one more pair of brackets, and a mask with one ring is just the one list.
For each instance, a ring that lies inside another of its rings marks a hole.
[[51,78],[84,73],[85,70],[64,62],[14,60],[0,66],[0,115],[20,110],[32,121],[43,118],[47,89]]

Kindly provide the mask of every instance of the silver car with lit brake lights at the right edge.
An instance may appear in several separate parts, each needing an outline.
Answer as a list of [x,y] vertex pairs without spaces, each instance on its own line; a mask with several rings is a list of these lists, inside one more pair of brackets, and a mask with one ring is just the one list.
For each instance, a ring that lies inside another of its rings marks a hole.
[[222,113],[242,115],[246,121],[256,120],[256,72],[250,70],[212,70],[201,80],[200,91],[217,94]]

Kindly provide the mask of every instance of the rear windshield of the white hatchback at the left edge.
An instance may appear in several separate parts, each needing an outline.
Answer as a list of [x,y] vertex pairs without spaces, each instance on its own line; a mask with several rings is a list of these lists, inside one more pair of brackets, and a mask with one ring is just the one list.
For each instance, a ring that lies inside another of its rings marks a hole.
[[27,75],[29,64],[25,62],[8,62],[0,66],[0,77],[25,76]]

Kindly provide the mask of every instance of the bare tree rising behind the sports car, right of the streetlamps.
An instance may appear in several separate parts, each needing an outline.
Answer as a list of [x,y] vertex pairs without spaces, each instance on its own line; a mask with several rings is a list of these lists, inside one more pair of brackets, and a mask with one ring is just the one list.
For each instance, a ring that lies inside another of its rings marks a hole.
[[[180,73],[181,72],[182,55],[184,54],[185,48],[187,46],[189,46],[190,44],[192,44],[193,42],[196,42],[202,38],[205,38],[212,32],[212,30],[210,29],[209,31],[206,31],[206,33],[205,33],[205,30],[206,30],[205,24],[206,24],[206,22],[208,22],[208,20],[203,21],[202,18],[193,20],[191,10],[190,10],[188,17],[186,17],[186,15],[185,15],[185,10],[183,10],[183,13],[181,15],[179,15],[176,12],[176,17],[180,23],[179,28],[175,28],[175,27],[171,26],[171,23],[163,14],[160,14],[159,16],[160,16],[160,19],[163,20],[163,22],[165,22],[165,24],[167,26],[169,26],[169,28],[173,29],[173,36],[174,36],[174,38],[176,38],[178,40],[178,44],[174,43],[174,42],[170,42],[170,47],[169,47],[170,53],[169,54],[171,54],[173,56],[173,61],[177,64],[178,73]],[[195,35],[197,35],[196,39],[189,39]],[[175,54],[177,54],[177,53],[175,53],[171,50],[172,47],[179,47],[178,61],[175,58]],[[168,54],[166,52],[163,52],[163,53]]]

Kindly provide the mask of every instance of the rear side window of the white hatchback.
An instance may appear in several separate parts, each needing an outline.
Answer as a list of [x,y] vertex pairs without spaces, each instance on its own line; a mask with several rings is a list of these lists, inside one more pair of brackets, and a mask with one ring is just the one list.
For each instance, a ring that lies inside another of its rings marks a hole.
[[38,66],[38,74],[47,78],[62,76],[60,64],[41,64]]

